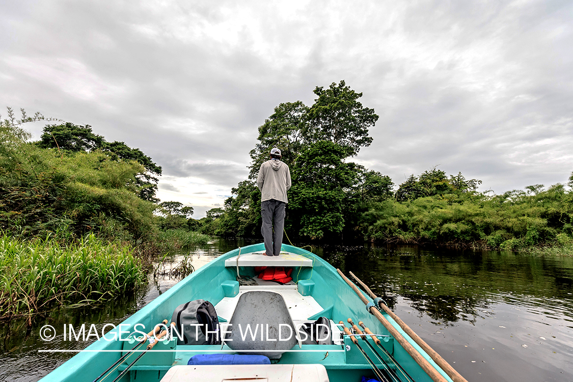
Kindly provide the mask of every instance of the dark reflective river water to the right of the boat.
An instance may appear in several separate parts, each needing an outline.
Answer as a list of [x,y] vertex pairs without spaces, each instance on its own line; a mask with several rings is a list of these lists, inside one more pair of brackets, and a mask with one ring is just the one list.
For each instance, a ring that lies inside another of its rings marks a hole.
[[468,381],[573,380],[573,259],[415,247],[323,249]]

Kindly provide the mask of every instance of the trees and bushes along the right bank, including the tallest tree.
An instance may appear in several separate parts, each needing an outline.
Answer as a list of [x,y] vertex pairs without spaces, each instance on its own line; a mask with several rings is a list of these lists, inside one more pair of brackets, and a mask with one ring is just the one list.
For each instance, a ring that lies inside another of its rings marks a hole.
[[[310,107],[282,103],[258,129],[249,178],[224,208],[207,212],[203,233],[260,237],[255,181],[270,148],[291,168],[285,230],[297,242],[371,241],[571,254],[573,176],[503,194],[479,192],[481,180],[432,167],[395,186],[386,175],[351,161],[372,143],[378,116],[344,81],[315,89]],[[565,175],[565,174],[564,174]]]

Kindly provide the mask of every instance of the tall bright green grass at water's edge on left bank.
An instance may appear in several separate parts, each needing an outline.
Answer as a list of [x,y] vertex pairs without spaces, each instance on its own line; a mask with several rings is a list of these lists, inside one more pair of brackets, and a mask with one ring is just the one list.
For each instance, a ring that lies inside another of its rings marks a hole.
[[93,234],[64,246],[0,233],[0,318],[117,296],[145,278],[130,246],[102,242]]

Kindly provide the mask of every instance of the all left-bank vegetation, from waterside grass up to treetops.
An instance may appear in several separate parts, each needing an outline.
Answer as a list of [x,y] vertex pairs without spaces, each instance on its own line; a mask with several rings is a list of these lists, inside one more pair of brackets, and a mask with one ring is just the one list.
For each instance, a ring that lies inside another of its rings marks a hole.
[[37,120],[0,121],[0,317],[131,292],[157,255],[207,242],[193,208],[157,204],[162,169],[142,151],[70,123],[33,142]]

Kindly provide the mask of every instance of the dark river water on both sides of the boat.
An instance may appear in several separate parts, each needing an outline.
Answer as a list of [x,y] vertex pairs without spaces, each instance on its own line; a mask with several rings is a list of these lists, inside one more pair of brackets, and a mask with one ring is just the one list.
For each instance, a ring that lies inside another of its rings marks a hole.
[[[195,269],[250,242],[215,239],[191,251]],[[313,250],[344,273],[356,274],[469,382],[573,381],[573,258],[497,251],[397,247]],[[182,255],[167,259],[167,269]],[[0,381],[37,381],[89,342],[40,340],[46,324],[119,324],[178,282],[150,275],[134,296],[93,307],[60,309],[26,330],[0,330]],[[56,329],[57,330],[57,329]]]

